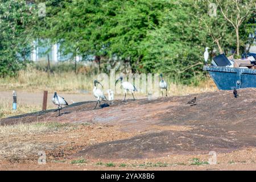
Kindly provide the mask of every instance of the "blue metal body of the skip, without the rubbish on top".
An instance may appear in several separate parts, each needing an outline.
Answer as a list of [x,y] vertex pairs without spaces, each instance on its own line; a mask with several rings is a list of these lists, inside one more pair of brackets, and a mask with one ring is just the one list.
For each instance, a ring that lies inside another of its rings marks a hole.
[[220,90],[256,88],[256,69],[204,66]]

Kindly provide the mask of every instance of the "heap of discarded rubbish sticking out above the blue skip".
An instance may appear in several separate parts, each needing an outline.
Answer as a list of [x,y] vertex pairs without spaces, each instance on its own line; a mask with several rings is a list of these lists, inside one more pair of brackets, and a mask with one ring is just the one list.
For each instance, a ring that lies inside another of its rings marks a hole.
[[256,69],[256,53],[242,55],[241,59],[234,59],[234,56],[226,57],[224,53],[213,57],[212,65],[216,67],[248,68]]

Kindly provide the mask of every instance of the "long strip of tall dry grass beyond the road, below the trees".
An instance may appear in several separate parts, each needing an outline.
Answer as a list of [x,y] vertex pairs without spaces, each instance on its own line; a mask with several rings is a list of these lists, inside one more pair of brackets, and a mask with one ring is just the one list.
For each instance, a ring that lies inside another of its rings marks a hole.
[[[48,92],[81,93],[81,90],[93,89],[95,78],[97,75],[85,76],[82,73],[76,75],[73,72],[53,73],[48,77],[47,72],[28,68],[27,71],[20,71],[16,78],[0,78],[0,90],[26,90],[27,92],[48,90]],[[201,82],[199,86],[174,84],[170,80],[166,81],[170,85],[170,96],[209,92],[217,89],[210,78],[208,81]]]

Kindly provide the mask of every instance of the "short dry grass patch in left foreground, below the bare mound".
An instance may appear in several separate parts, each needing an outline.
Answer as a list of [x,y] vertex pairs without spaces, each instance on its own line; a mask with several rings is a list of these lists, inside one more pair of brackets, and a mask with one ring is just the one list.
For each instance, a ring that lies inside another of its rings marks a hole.
[[17,125],[0,126],[0,160],[16,162],[27,156],[36,156],[39,151],[55,148],[51,140],[39,142],[42,135],[59,132],[66,128],[61,123],[19,123]]

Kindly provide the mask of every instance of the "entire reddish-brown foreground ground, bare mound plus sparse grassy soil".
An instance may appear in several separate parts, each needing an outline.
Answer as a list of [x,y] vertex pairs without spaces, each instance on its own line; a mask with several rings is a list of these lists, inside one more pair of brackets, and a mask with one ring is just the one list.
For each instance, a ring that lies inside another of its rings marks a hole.
[[[1,169],[255,170],[256,89],[108,102],[80,102],[25,114],[0,125],[48,123],[46,130],[2,133]],[[187,105],[193,97],[196,105]],[[52,126],[50,123],[59,123]],[[6,126],[1,126],[6,127]],[[38,151],[47,164],[39,165]],[[210,151],[217,164],[208,164]],[[114,167],[115,166],[115,167]]]

